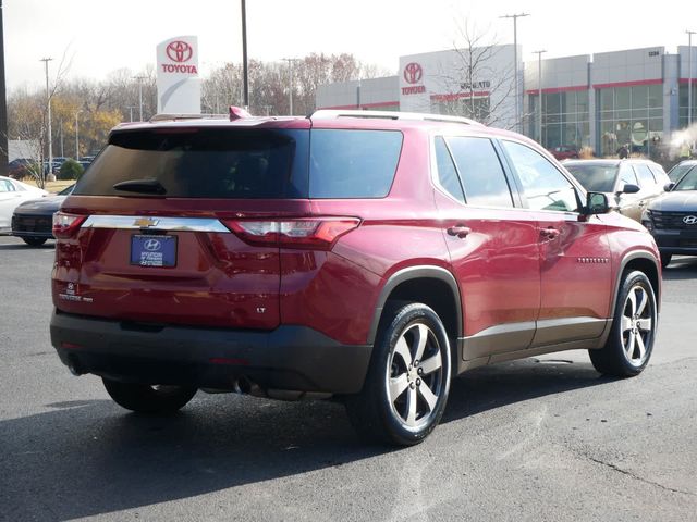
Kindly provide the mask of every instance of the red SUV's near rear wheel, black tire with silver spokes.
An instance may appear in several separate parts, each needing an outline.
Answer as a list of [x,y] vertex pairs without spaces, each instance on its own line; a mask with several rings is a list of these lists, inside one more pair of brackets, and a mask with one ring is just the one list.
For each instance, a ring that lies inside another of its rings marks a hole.
[[438,314],[423,303],[386,307],[368,374],[345,400],[364,438],[400,446],[424,440],[445,409],[450,343]]

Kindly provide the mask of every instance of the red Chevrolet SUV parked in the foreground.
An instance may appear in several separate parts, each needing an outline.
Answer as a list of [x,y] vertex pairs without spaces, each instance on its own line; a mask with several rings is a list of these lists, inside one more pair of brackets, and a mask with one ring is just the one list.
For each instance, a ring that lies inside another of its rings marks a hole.
[[140,412],[338,395],[409,445],[451,377],[588,349],[646,366],[660,262],[529,139],[369,111],[114,128],[56,214],[51,340]]

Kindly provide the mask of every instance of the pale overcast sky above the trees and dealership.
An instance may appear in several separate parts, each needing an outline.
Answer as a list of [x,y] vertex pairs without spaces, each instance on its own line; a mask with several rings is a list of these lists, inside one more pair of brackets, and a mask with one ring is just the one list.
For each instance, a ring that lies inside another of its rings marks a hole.
[[[1,0],[0,0],[1,1]],[[68,78],[102,79],[129,67],[155,63],[157,44],[197,35],[201,73],[242,61],[240,0],[3,0],[5,75],[9,87],[44,85],[41,58],[58,62],[68,50]],[[697,2],[537,0],[247,0],[249,58],[265,61],[311,52],[353,53],[396,73],[399,57],[451,49],[458,24],[499,44],[513,42],[518,20],[523,59],[687,45],[697,30]],[[693,24],[688,26],[688,24]],[[697,48],[697,35],[693,38]],[[697,49],[694,51],[697,52]]]

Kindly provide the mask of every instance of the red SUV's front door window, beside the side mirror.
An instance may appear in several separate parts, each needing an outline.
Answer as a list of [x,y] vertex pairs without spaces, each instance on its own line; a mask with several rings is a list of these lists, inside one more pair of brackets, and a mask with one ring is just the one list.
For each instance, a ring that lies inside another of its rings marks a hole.
[[521,179],[530,209],[578,209],[574,186],[542,154],[513,141],[503,141],[503,147]]

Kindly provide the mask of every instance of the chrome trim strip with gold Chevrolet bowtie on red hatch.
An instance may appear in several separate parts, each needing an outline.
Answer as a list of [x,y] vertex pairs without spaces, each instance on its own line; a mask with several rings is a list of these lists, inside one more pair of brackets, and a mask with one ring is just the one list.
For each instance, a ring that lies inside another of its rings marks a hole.
[[[151,220],[156,223],[142,226],[137,224],[138,220]],[[230,233],[220,220],[211,217],[160,217],[157,215],[90,215],[83,223],[82,228]]]

